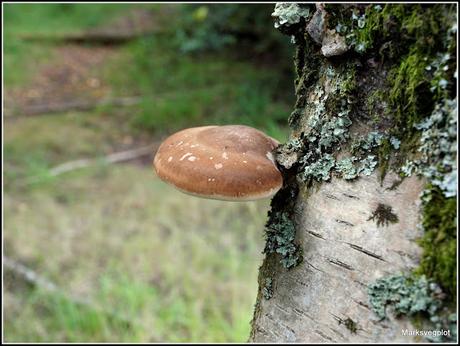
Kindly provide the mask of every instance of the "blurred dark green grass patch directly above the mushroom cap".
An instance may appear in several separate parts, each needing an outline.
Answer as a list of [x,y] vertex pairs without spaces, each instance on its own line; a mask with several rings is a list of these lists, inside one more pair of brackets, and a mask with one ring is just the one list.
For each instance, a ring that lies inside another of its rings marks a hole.
[[171,132],[238,123],[286,139],[291,85],[272,66],[232,60],[225,52],[180,55],[170,38],[151,36],[125,47],[105,73],[115,94],[143,96],[132,110],[135,128]]

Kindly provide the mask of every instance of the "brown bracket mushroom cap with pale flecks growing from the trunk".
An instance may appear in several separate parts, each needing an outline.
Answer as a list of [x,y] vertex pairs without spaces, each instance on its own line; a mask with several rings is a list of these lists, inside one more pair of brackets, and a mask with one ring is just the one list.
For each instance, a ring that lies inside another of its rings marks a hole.
[[243,125],[179,131],[158,148],[158,176],[179,190],[205,198],[248,201],[273,196],[283,185],[272,151],[279,143]]

